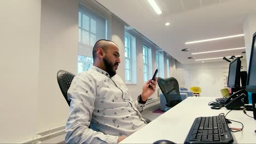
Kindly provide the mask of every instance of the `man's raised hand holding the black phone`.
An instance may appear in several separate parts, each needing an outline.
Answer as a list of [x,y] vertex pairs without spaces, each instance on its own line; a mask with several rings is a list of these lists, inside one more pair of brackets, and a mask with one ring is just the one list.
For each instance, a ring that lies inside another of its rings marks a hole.
[[[150,82],[151,81],[151,82]],[[158,81],[158,78],[155,77],[155,80],[148,80],[143,88],[142,88],[142,94],[141,94],[141,99],[143,101],[146,101],[154,92],[155,92],[155,87],[156,87],[156,81]],[[149,88],[148,86],[152,86],[152,88]]]

